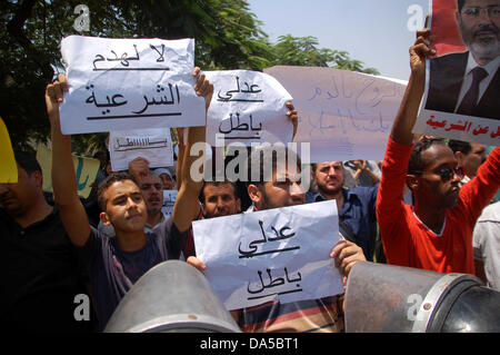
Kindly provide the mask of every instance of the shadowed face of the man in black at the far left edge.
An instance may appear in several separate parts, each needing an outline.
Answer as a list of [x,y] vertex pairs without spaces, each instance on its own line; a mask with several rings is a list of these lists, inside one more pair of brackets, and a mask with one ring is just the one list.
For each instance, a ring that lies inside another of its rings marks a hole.
[[0,184],[0,206],[14,218],[24,216],[41,194],[40,171],[28,174],[18,165],[18,183]]

